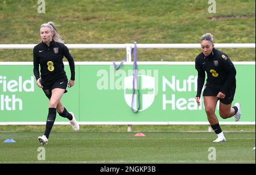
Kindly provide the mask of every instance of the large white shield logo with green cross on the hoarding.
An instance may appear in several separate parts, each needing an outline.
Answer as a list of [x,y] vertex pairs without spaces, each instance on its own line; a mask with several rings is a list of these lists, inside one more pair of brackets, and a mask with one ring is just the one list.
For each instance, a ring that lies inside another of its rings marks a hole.
[[[152,105],[155,99],[155,78],[152,76],[138,75],[138,81],[134,82],[134,89],[139,88],[139,93],[141,95],[141,109],[139,111],[145,110]],[[138,94],[134,95],[133,99],[133,76],[127,76],[124,79],[124,89],[125,89],[125,101],[134,110],[138,109]],[[133,106],[131,106],[131,101],[133,99]]]

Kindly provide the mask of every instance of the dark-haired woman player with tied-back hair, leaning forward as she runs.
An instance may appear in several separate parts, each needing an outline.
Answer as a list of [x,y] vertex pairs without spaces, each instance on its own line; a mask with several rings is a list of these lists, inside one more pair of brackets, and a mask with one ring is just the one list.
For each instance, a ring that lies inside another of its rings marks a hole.
[[207,82],[204,86],[204,106],[207,118],[212,129],[217,134],[217,139],[213,142],[226,142],[226,138],[218,124],[215,114],[217,101],[220,100],[221,118],[234,116],[235,121],[241,117],[240,104],[232,101],[236,92],[236,69],[229,57],[220,50],[214,49],[213,35],[206,33],[201,38],[202,52],[196,57],[197,95],[196,102],[200,105],[201,91],[204,86],[205,72],[207,72]]

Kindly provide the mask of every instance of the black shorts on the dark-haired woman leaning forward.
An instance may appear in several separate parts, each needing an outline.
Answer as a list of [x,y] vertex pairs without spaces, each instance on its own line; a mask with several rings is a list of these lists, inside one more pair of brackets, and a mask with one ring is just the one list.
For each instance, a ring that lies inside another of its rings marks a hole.
[[[208,87],[206,86],[203,92],[203,96],[217,96],[220,92],[220,88]],[[228,105],[234,100],[234,95],[236,93],[236,86],[230,89],[226,94],[224,99],[219,99],[221,103]]]

